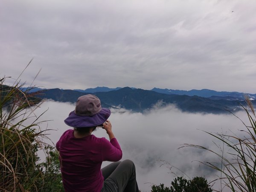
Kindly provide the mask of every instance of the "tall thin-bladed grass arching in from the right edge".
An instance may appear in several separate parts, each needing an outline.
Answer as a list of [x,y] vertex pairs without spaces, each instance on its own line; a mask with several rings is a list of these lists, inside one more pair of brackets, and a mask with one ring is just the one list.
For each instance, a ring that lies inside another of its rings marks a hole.
[[228,187],[233,192],[256,192],[256,115],[250,99],[246,97],[245,101],[247,106],[242,106],[242,108],[250,124],[246,125],[240,119],[244,125],[244,129],[240,130],[242,136],[206,132],[223,143],[223,146],[227,148],[227,154],[223,150],[218,152],[201,145],[184,144],[184,146],[207,150],[215,154],[220,162],[201,163],[220,172],[221,177],[217,180],[221,180],[224,187]]

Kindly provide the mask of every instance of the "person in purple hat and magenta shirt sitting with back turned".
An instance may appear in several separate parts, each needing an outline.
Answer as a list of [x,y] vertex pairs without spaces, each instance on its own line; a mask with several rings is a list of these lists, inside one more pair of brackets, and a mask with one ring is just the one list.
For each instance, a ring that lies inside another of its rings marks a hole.
[[[65,192],[140,192],[134,163],[119,161],[122,150],[108,120],[110,114],[97,96],[88,94],[78,98],[75,110],[64,120],[73,127],[56,143]],[[99,126],[110,141],[92,134]],[[101,169],[103,161],[114,163]]]

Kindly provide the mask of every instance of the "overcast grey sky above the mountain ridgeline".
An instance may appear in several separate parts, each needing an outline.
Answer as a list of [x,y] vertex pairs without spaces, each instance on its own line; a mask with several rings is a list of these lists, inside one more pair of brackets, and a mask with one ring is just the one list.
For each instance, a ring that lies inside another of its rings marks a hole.
[[254,0],[1,0],[0,76],[256,93]]

